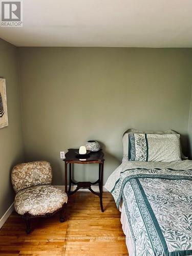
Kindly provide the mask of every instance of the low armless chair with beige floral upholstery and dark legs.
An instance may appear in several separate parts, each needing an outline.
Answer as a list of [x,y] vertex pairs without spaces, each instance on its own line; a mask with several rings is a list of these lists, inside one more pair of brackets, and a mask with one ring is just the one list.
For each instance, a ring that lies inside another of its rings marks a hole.
[[48,217],[60,210],[60,222],[64,221],[64,206],[67,194],[54,186],[52,169],[46,161],[17,164],[13,167],[11,181],[15,190],[15,211],[26,221],[26,232],[30,233],[30,219]]

